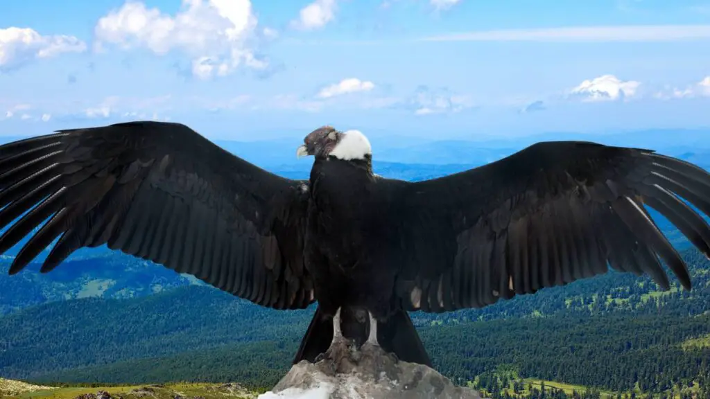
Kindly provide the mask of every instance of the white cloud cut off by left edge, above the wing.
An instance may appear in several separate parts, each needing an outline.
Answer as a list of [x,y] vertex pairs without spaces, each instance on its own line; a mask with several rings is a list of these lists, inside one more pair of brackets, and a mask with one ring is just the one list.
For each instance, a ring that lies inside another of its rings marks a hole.
[[82,53],[86,48],[86,43],[74,36],[40,35],[31,28],[0,29],[0,70],[62,53]]

